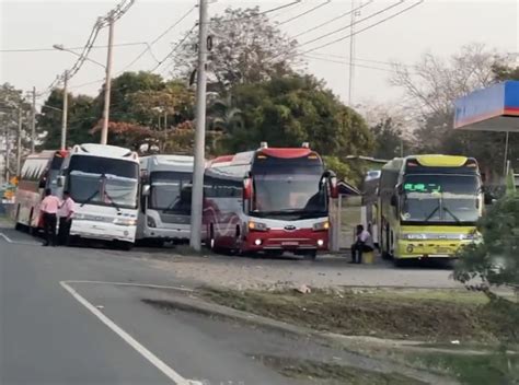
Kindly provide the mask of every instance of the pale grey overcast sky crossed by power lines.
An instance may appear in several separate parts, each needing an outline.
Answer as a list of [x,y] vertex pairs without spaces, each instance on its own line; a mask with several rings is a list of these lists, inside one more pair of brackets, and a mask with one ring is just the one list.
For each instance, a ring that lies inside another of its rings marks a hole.
[[[46,90],[53,80],[70,68],[77,57],[70,52],[53,50],[53,45],[82,47],[95,20],[105,15],[120,0],[0,0],[0,82],[9,82],[23,90]],[[355,0],[356,7],[369,0]],[[358,19],[367,18],[400,0],[372,0],[362,8]],[[417,7],[385,22],[382,19],[396,13],[419,0],[404,0],[390,11],[358,23],[361,30],[381,21],[380,25],[360,32],[355,36],[355,67],[351,88],[353,105],[392,104],[404,96],[402,90],[392,86],[390,62],[413,65],[424,52],[449,57],[463,45],[482,43],[501,52],[519,51],[519,0],[424,0]],[[262,11],[290,3],[278,1],[210,1],[209,15],[221,13],[226,8],[258,5]],[[351,1],[331,0],[309,12],[326,0],[302,0],[269,15],[288,35],[297,34],[330,21],[351,9]],[[169,26],[189,9],[195,0],[136,0],[130,10],[115,25],[114,72],[127,70],[150,70],[157,61],[147,52],[137,62],[128,65]],[[152,46],[157,59],[163,59],[173,44],[188,31],[198,18],[193,11],[174,28]],[[295,18],[290,21],[291,18]],[[334,30],[348,26],[349,16],[327,23],[323,27],[298,37],[303,45]],[[301,50],[327,44],[349,34],[349,30],[301,46]],[[101,63],[106,61],[107,28],[101,31],[96,46],[89,56]],[[129,44],[123,45],[122,44]],[[5,51],[12,49],[48,49],[43,51]],[[78,50],[79,51],[79,50]],[[307,57],[308,72],[324,79],[344,102],[348,102],[348,57],[350,40],[346,38],[320,48]],[[168,73],[165,62],[158,72]],[[104,69],[85,62],[70,80],[70,91],[94,95],[97,93]],[[45,95],[38,100],[42,104]]]

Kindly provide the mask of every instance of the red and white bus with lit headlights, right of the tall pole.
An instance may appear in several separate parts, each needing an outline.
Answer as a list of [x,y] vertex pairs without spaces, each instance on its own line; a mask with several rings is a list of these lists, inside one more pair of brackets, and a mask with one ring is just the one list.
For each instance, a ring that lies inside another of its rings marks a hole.
[[204,232],[215,250],[292,252],[328,246],[328,198],[336,178],[309,149],[268,148],[217,158],[204,178]]

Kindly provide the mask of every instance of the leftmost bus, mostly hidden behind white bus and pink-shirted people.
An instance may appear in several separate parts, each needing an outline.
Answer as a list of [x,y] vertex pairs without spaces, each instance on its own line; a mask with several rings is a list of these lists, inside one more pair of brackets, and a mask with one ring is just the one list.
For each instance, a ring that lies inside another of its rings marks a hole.
[[20,172],[19,185],[14,197],[15,226],[18,230],[38,229],[39,203],[46,188],[57,192],[57,178],[67,151],[42,151],[30,154]]

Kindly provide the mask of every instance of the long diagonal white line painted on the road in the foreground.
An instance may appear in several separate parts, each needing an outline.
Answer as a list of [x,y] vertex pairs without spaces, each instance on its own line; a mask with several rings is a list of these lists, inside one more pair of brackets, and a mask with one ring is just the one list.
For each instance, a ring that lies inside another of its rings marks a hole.
[[[178,373],[176,373],[173,369],[168,366],[161,359],[159,359],[155,354],[151,351],[146,349],[142,345],[140,345],[134,337],[123,330],[119,326],[117,326],[112,319],[101,313],[94,305],[92,305],[89,301],[86,301],[83,296],[81,296],[74,289],[72,289],[67,282],[71,281],[61,281],[59,284],[67,290],[80,304],[86,307],[93,315],[95,315],[103,324],[112,329],[115,334],[117,334],[125,342],[127,342],[130,347],[132,347],[139,354],[141,354],[145,359],[147,359],[151,364],[153,364],[158,370],[160,370],[166,377],[172,380],[176,385],[201,385],[198,381],[186,380]],[[109,283],[109,282],[102,282],[102,283]]]

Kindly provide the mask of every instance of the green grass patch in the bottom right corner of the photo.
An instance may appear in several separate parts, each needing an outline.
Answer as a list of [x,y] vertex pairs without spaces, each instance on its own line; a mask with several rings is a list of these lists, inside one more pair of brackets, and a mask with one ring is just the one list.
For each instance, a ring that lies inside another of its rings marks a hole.
[[419,366],[441,371],[462,384],[518,384],[519,355],[461,355],[446,353],[414,353],[407,360]]

